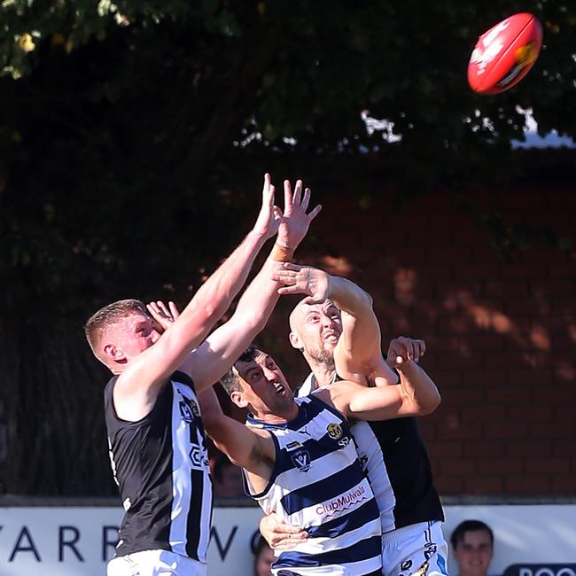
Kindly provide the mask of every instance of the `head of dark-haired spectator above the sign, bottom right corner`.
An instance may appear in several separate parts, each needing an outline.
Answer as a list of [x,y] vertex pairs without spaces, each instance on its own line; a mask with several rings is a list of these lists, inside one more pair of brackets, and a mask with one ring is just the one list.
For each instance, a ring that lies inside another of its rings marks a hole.
[[486,576],[494,550],[494,533],[480,520],[464,520],[450,537],[460,576]]

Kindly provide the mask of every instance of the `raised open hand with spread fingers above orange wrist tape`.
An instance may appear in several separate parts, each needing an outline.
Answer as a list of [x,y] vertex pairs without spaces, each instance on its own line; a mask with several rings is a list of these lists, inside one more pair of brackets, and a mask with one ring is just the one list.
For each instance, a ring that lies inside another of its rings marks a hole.
[[298,180],[292,196],[290,181],[284,180],[284,214],[278,227],[278,244],[295,250],[306,236],[310,222],[322,210],[322,206],[318,204],[312,212],[306,214],[310,203],[310,193],[310,189],[307,188],[302,194],[302,181]]

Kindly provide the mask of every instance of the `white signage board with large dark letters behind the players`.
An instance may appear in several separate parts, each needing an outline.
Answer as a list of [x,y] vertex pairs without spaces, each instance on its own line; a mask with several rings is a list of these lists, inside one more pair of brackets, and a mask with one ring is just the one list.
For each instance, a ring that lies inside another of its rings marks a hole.
[[[494,530],[491,574],[576,576],[576,505],[445,506],[450,533],[463,519]],[[0,576],[105,576],[122,510],[110,507],[0,508]],[[250,576],[258,508],[215,508],[209,576]],[[455,576],[454,563],[448,564]]]

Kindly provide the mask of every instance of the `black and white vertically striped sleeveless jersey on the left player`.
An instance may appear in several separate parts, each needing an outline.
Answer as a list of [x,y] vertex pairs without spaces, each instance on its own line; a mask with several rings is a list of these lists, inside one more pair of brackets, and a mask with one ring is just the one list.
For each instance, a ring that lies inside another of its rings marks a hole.
[[212,480],[192,380],[175,372],[152,411],[127,422],[113,407],[117,378],[105,387],[110,459],[125,510],[116,556],[164,549],[206,563]]

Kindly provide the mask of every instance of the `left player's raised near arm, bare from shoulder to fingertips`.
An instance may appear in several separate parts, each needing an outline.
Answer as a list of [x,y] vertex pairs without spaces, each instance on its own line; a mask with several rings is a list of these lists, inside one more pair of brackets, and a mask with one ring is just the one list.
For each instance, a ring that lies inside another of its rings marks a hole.
[[274,206],[274,186],[265,176],[262,206],[257,222],[230,257],[200,286],[170,330],[142,354],[136,356],[114,385],[114,404],[123,405],[133,419],[150,410],[160,386],[177,370],[191,350],[206,337],[245,283],[254,258],[279,225]]

